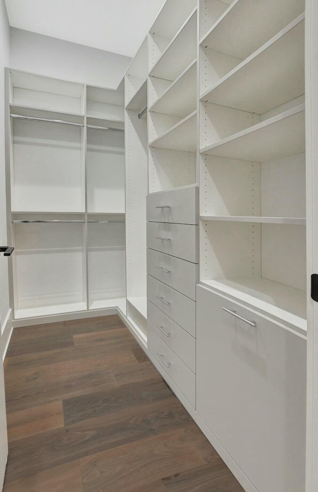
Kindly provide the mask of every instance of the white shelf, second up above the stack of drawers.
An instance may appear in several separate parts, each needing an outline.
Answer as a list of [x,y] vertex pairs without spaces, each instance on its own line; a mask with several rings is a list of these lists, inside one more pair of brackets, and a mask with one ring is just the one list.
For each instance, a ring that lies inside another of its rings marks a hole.
[[182,74],[154,102],[149,111],[185,116],[196,107],[197,59],[193,60]]

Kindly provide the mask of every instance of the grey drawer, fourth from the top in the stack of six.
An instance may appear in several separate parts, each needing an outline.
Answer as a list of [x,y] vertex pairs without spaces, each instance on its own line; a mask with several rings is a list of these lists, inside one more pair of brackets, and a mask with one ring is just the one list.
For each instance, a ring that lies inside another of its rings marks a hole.
[[188,333],[195,330],[195,302],[147,275],[147,298]]

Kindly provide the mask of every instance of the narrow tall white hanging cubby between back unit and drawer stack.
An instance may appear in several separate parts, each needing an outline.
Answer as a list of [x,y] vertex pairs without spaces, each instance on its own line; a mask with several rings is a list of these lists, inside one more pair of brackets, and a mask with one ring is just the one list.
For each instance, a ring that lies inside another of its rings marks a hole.
[[148,36],[125,76],[127,317],[147,340]]

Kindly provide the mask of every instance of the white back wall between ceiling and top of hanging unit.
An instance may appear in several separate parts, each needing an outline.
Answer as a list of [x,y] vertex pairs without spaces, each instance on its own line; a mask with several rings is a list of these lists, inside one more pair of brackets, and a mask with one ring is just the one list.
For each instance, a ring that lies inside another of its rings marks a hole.
[[128,56],[10,28],[10,68],[17,70],[117,89],[130,62]]

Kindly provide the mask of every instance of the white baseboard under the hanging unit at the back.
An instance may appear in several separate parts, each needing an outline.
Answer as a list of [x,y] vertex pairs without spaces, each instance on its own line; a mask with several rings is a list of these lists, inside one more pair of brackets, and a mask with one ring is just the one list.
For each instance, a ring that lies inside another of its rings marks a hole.
[[[70,321],[73,319],[95,318],[97,316],[110,316],[117,314],[117,307],[105,307],[103,309],[76,311],[61,314],[48,314],[47,316],[36,316],[32,318],[20,318],[12,321],[13,328],[21,328],[23,326],[35,326],[45,323],[57,323],[59,321]],[[121,311],[120,311],[121,312]]]

